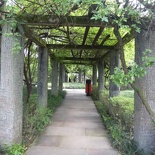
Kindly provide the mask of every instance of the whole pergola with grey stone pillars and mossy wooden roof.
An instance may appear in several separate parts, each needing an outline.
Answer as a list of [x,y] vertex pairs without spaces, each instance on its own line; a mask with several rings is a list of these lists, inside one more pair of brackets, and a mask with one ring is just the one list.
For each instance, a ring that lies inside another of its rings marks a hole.
[[[38,96],[40,102],[47,106],[47,75],[48,55],[53,60],[52,68],[52,93],[57,93],[58,61],[59,68],[59,89],[62,89],[63,64],[81,64],[93,66],[93,84],[96,84],[98,67],[98,91],[104,89],[104,62],[110,61],[110,74],[119,62],[119,44],[113,34],[113,18],[109,22],[92,19],[93,10],[97,5],[91,5],[85,14],[75,16],[52,15],[17,15],[18,20],[26,20],[18,27],[22,35],[9,37],[5,33],[12,32],[9,23],[2,25],[1,38],[1,95],[0,95],[0,144],[12,144],[22,138],[22,89],[23,89],[23,57],[24,37],[38,45]],[[72,11],[78,9],[77,6]],[[11,20],[11,19],[10,19]],[[128,21],[127,21],[128,22]],[[24,31],[22,31],[22,30]],[[142,63],[142,52],[145,49],[154,51],[155,31],[153,26],[141,26],[141,33],[127,29],[122,31],[123,44],[133,38],[136,40],[136,62]],[[24,32],[24,33],[23,33]],[[147,33],[148,35],[145,35]],[[12,53],[16,42],[19,42],[22,49],[18,53]],[[155,56],[152,52],[151,56]],[[7,60],[7,63],[6,63]],[[148,75],[142,79],[136,79],[136,85],[146,95],[146,100],[155,111],[154,101],[155,84],[152,78],[155,75],[154,66],[148,69]],[[12,78],[10,78],[12,77]],[[148,87],[149,86],[149,87]],[[117,95],[119,88],[110,82],[110,96]],[[148,95],[149,94],[149,95]],[[148,97],[148,96],[150,97]],[[100,96],[99,96],[100,98]],[[145,117],[144,117],[145,116]],[[144,123],[145,122],[145,123]],[[134,139],[139,148],[150,151],[154,148],[155,129],[151,118],[142,104],[138,94],[135,93],[135,117],[134,117]]]

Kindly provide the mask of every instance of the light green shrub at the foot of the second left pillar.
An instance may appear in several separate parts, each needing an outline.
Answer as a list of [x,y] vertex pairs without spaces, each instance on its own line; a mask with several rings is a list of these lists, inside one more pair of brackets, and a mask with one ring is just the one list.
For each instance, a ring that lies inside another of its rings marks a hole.
[[36,136],[50,123],[52,111],[38,104],[36,94],[30,96],[28,103],[24,106],[23,119],[23,141],[26,144],[33,142]]

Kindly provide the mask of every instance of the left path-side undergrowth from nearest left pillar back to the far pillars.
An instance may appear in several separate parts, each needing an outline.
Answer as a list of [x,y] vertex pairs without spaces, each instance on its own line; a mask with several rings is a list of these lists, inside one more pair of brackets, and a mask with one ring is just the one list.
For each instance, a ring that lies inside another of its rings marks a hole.
[[51,122],[51,117],[55,109],[62,103],[66,95],[65,91],[60,91],[57,96],[51,95],[51,90],[48,91],[48,105],[44,107],[38,104],[36,88],[28,103],[24,104],[23,118],[23,143],[28,146],[35,138],[44,131],[45,127]]

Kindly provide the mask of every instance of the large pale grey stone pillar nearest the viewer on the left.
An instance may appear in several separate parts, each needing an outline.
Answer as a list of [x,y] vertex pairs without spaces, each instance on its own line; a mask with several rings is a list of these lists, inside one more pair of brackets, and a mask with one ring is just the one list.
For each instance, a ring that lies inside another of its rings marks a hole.
[[[2,26],[0,145],[22,141],[24,37],[10,34],[9,23]],[[21,49],[13,51],[17,43]]]

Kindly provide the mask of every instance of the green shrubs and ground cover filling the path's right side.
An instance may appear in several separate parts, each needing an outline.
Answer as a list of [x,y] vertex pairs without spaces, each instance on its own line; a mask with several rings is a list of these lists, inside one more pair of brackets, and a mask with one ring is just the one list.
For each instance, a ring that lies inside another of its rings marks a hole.
[[102,116],[111,137],[112,145],[122,155],[142,155],[133,140],[133,91],[122,91],[118,97],[109,98],[108,91],[101,92],[101,100],[97,98],[97,87],[93,88],[93,99]]

